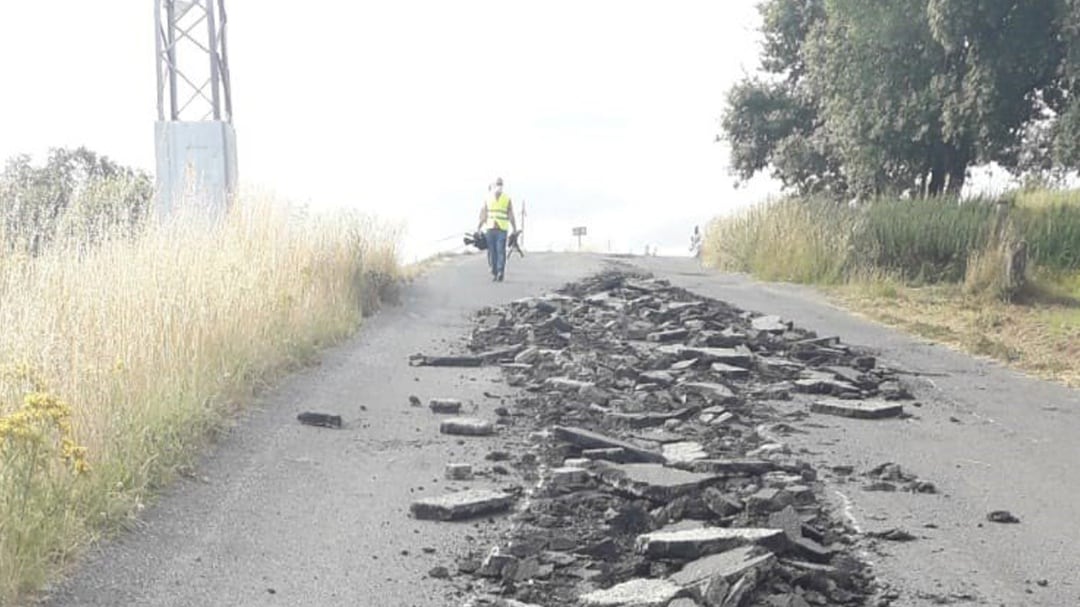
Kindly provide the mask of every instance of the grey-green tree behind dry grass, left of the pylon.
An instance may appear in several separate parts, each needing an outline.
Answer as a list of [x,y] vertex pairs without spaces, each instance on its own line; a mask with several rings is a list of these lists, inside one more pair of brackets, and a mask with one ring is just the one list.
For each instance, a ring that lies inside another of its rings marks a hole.
[[16,156],[0,173],[0,238],[33,254],[62,238],[93,244],[137,229],[152,198],[149,175],[83,147],[54,148],[40,167]]

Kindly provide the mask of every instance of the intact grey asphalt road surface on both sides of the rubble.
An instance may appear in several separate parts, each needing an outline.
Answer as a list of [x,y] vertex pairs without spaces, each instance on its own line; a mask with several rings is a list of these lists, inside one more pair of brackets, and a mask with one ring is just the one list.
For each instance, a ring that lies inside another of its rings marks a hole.
[[[417,352],[461,347],[484,306],[551,291],[613,258],[532,254],[507,282],[483,259],[441,262],[369,319],[321,365],[287,378],[243,414],[195,478],[172,487],[137,528],[89,552],[50,590],[50,606],[454,605],[427,574],[482,548],[507,523],[440,524],[408,517],[436,495],[447,461],[483,461],[500,439],[438,434],[426,407],[461,397],[481,413],[507,395],[495,369],[414,368]],[[865,530],[901,527],[907,543],[859,548],[900,592],[894,605],[1080,605],[1080,396],[996,364],[855,318],[810,288],[761,284],[675,258],[621,258],[702,295],[775,313],[821,335],[868,347],[910,373],[921,406],[887,422],[814,417],[787,441],[820,469],[896,462],[941,495],[868,493],[829,480],[826,494]],[[341,415],[341,430],[296,415]],[[833,478],[829,476],[828,478]],[[477,482],[497,485],[497,480]],[[986,522],[1009,510],[1018,525]],[[426,550],[427,549],[427,550]],[[1043,582],[1043,583],[1040,583]]]

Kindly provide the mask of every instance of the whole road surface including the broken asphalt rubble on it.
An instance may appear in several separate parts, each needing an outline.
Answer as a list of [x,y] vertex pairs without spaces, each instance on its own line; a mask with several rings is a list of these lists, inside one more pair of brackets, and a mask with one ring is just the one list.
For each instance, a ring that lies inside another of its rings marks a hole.
[[409,285],[42,603],[1080,604],[1076,418],[997,405],[1074,393],[943,390],[967,359],[692,260],[485,278]]

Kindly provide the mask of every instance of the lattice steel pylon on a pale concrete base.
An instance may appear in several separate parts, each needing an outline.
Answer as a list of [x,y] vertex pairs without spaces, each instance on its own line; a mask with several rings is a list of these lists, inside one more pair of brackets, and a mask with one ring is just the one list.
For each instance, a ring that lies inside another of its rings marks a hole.
[[158,211],[224,214],[237,188],[225,0],[153,0]]

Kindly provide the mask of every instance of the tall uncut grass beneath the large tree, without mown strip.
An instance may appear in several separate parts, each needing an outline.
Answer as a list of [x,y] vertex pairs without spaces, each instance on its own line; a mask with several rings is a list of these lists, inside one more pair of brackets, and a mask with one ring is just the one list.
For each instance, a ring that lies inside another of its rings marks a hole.
[[1080,195],[1037,192],[996,200],[881,199],[859,207],[822,200],[767,202],[711,222],[706,262],[766,280],[836,284],[890,276],[967,283],[1001,293],[1002,220],[1032,268],[1080,270]]

